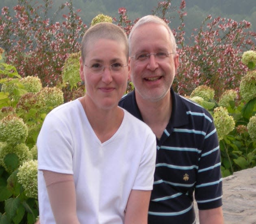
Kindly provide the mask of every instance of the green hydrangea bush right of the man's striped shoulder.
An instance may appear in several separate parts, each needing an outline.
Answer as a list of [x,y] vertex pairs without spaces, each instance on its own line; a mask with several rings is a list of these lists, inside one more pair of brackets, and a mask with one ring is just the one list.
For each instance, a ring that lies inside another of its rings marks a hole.
[[[248,66],[254,60],[254,53],[245,52],[243,63]],[[213,115],[221,149],[221,171],[225,177],[256,166],[256,70],[249,68],[241,77],[240,87],[224,90],[218,102],[214,95],[211,87],[200,85],[187,98]]]

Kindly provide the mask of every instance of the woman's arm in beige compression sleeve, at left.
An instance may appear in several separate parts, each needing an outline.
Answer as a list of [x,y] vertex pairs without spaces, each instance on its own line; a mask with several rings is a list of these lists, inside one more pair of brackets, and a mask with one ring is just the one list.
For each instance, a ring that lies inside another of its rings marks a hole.
[[43,177],[56,224],[80,224],[73,175],[43,171]]

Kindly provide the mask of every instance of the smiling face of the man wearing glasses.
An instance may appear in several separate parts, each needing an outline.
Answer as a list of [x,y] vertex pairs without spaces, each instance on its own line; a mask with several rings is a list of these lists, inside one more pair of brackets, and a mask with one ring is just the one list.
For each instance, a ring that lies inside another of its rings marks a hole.
[[[131,46],[131,81],[141,98],[156,102],[170,91],[178,68],[178,54],[173,54],[169,33],[158,23],[141,25],[133,33]],[[152,54],[140,60],[143,54]],[[171,53],[166,58],[153,55]],[[136,56],[135,56],[136,55]],[[135,56],[135,58],[133,58]]]

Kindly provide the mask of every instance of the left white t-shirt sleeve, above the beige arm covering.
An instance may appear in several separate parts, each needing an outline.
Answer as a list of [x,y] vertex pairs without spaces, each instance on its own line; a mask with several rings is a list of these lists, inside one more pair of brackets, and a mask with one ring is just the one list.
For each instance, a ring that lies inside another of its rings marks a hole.
[[46,116],[37,138],[38,169],[73,174],[72,135],[64,119]]

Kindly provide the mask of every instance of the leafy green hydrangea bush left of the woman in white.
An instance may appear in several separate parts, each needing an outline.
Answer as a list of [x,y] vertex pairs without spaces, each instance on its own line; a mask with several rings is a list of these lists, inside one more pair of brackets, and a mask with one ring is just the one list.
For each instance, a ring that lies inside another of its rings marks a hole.
[[0,224],[36,222],[35,143],[46,114],[62,103],[59,88],[42,88],[37,77],[21,78],[0,63]]

